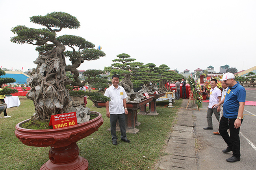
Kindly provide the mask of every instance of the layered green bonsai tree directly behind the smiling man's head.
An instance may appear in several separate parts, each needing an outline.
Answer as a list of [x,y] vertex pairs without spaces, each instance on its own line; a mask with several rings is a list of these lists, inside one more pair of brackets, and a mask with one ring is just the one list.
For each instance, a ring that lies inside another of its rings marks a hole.
[[125,53],[117,55],[117,59],[112,60],[113,63],[109,67],[105,67],[104,71],[109,71],[112,74],[118,74],[124,79],[119,82],[119,85],[124,88],[127,93],[134,93],[134,87],[131,75],[136,75],[140,67],[143,65],[142,62],[134,62],[135,58],[130,58],[131,56]]

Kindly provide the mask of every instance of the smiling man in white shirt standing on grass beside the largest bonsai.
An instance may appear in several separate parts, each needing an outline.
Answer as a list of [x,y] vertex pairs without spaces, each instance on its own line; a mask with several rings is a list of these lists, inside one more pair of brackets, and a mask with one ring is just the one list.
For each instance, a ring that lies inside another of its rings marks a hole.
[[106,90],[105,96],[111,101],[106,102],[107,117],[110,117],[112,143],[117,145],[117,135],[115,126],[119,121],[121,140],[127,143],[130,141],[126,137],[125,115],[128,114],[126,108],[127,94],[122,86],[119,86],[119,75],[112,75],[112,85]]

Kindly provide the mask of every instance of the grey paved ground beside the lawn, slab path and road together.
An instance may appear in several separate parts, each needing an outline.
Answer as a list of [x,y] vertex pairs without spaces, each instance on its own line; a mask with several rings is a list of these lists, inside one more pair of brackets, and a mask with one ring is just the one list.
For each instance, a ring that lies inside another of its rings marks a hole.
[[[183,100],[186,108],[188,99]],[[193,103],[193,102],[191,102]],[[187,110],[178,112],[177,122],[169,134],[164,149],[164,155],[156,164],[157,170],[252,170],[255,169],[256,154],[250,144],[241,137],[241,161],[228,163],[227,158],[232,152],[224,154],[226,143],[217,132],[219,122],[213,114],[213,130],[203,130],[207,127],[206,110],[208,103],[197,110],[196,105],[189,104]],[[244,122],[243,122],[244,123]],[[241,129],[243,128],[243,124]]]

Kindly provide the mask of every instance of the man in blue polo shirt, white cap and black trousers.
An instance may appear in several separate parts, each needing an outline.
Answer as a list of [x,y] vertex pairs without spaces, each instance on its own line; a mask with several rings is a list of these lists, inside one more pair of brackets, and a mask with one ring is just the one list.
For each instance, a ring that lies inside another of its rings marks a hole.
[[[232,73],[225,73],[221,81],[228,85],[228,91],[224,99],[213,106],[223,104],[223,116],[219,124],[219,133],[228,145],[222,152],[233,151],[233,156],[226,159],[228,162],[240,161],[240,138],[239,130],[243,121],[243,109],[245,107],[245,88],[235,81]],[[230,136],[227,130],[230,130]]]

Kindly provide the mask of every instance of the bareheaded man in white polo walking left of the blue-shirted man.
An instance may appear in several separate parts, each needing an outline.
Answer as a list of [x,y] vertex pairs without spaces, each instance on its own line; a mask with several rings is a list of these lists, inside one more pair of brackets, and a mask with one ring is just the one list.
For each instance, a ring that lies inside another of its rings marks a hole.
[[[217,88],[217,80],[216,79],[211,79],[211,90],[210,90],[210,101],[209,101],[209,105],[208,105],[208,110],[207,110],[207,123],[208,123],[208,127],[204,128],[204,130],[212,130],[212,113],[215,114],[216,119],[219,122],[219,112],[221,107],[219,106],[219,108],[215,107],[212,108],[212,106],[214,104],[217,104],[221,101],[221,90],[219,90],[219,88]],[[218,109],[218,111],[217,111]]]

